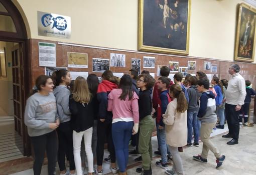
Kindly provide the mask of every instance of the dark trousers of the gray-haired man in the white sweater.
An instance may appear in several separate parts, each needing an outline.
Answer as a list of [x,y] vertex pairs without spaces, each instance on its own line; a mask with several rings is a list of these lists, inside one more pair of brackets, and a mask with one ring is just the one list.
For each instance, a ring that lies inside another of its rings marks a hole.
[[240,111],[235,111],[236,105],[225,104],[225,113],[227,119],[228,133],[232,137],[238,140],[239,137],[239,113]]

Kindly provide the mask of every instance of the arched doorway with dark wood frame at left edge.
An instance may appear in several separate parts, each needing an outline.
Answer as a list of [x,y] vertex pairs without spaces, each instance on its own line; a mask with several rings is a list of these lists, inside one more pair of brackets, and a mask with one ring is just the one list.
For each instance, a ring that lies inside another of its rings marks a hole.
[[[7,120],[12,121],[13,117],[14,123],[14,134],[5,133],[1,135],[0,133],[0,152],[11,152],[10,149],[6,150],[4,148],[5,145],[12,145],[13,149],[17,150],[15,145],[19,144],[20,147],[18,148],[21,150],[22,156],[31,155],[31,144],[29,142],[27,128],[24,124],[25,104],[30,89],[30,63],[27,53],[27,31],[20,12],[12,1],[0,0],[0,81],[10,82],[7,83],[8,92],[2,92],[9,94],[6,103],[3,103],[6,106],[9,103],[9,110],[4,107],[3,111],[9,114]],[[12,97],[10,97],[10,94]],[[7,159],[4,160],[8,160],[8,156],[11,159],[12,156],[13,159],[17,156],[15,153],[11,155],[4,153],[2,155],[7,156]]]

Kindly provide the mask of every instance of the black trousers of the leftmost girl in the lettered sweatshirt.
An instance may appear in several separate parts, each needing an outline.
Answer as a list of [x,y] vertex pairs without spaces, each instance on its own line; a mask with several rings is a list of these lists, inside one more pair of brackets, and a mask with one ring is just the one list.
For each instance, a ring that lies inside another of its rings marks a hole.
[[45,150],[48,158],[48,174],[53,175],[57,162],[58,141],[56,131],[30,137],[35,153],[33,165],[34,175],[40,175],[44,162]]

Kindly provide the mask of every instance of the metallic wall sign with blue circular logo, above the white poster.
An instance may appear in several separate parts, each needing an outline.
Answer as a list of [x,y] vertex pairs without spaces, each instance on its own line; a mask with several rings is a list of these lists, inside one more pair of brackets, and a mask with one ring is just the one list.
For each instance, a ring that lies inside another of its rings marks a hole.
[[37,24],[38,35],[40,36],[70,39],[70,17],[45,12],[37,12]]

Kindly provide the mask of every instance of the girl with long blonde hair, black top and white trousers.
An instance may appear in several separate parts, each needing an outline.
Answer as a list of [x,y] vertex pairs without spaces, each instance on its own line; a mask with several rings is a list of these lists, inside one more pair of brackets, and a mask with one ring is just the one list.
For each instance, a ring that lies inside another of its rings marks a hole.
[[74,83],[73,93],[69,98],[69,110],[71,112],[71,128],[73,129],[74,159],[77,175],[82,175],[81,141],[84,137],[85,152],[88,161],[88,175],[93,174],[93,154],[91,148],[93,105],[92,95],[86,80],[77,77]]

